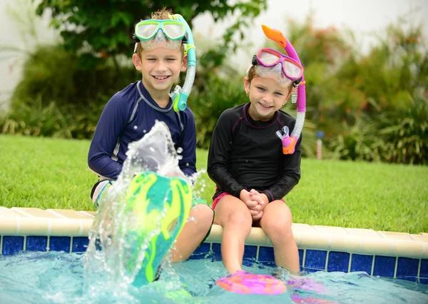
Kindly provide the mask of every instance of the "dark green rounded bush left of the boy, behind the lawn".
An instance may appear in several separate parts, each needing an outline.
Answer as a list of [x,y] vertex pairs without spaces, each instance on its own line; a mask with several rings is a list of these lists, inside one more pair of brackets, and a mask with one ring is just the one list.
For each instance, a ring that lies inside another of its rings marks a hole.
[[61,44],[36,47],[24,63],[24,77],[14,90],[11,106],[31,105],[36,96],[43,96],[40,100],[43,106],[52,101],[60,107],[99,104],[105,102],[103,96],[113,96],[136,80],[133,66],[123,65],[118,69],[113,59],[103,61],[96,69],[81,69],[78,61],[84,63],[85,57],[78,58]]

